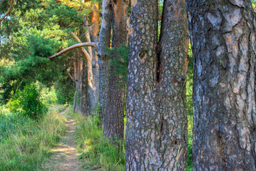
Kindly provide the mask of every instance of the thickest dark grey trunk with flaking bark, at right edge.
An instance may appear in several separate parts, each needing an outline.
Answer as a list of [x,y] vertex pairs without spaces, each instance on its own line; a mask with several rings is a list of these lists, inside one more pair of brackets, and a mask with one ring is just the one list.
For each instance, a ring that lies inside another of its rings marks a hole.
[[256,170],[256,18],[250,0],[188,0],[193,170]]

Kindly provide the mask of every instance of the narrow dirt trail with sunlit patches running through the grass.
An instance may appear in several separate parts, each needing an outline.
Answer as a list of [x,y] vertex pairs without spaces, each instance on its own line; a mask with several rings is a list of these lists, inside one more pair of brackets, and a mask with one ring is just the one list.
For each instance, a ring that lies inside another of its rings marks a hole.
[[[68,110],[68,108],[66,108],[66,110]],[[60,115],[65,115],[66,110],[60,113]],[[65,117],[67,119],[66,135],[61,139],[60,143],[51,150],[51,152],[54,153],[45,166],[46,170],[82,170],[81,164],[78,160],[78,152],[75,144],[76,138],[74,133],[76,130],[76,123],[73,119],[68,118],[66,115]]]

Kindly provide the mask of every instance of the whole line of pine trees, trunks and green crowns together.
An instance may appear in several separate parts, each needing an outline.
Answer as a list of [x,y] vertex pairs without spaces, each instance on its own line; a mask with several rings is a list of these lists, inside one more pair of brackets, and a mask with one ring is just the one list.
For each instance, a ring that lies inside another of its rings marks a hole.
[[123,140],[126,110],[126,170],[185,170],[190,36],[193,170],[256,170],[255,1],[0,4],[3,103],[31,82],[55,85],[111,140]]

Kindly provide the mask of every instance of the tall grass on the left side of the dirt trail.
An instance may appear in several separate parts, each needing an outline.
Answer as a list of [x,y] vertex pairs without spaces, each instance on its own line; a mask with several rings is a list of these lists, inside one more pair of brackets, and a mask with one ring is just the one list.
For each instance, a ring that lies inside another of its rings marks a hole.
[[0,170],[41,170],[48,152],[66,130],[66,119],[58,115],[66,107],[50,108],[39,122],[18,113],[0,114]]

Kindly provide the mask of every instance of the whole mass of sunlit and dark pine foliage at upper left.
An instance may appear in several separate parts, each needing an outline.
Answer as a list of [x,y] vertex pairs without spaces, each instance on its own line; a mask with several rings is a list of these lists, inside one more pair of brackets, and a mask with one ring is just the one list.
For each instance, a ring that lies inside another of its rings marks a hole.
[[[9,2],[4,1],[0,14],[8,6]],[[52,61],[47,57],[73,45],[74,42],[68,41],[71,39],[68,31],[84,29],[81,13],[54,0],[14,1],[13,9],[11,18],[3,22],[0,29],[1,59],[11,61],[7,65],[0,64],[0,103],[4,104],[11,98],[12,91],[22,90],[26,84],[39,81],[50,87],[58,82],[66,73],[63,71],[73,65],[70,60],[73,57]]]

